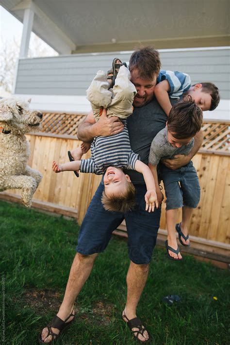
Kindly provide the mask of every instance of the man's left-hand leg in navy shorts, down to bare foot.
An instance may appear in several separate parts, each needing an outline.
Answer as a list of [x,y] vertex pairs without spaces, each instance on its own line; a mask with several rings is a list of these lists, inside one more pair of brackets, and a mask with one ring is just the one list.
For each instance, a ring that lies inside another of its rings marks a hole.
[[[78,253],[72,263],[65,297],[57,314],[61,320],[65,320],[73,311],[75,299],[90,275],[97,253],[102,252],[106,248],[113,230],[124,219],[123,214],[109,212],[103,208],[101,204],[103,190],[104,186],[100,183],[82,222],[78,237]],[[71,321],[71,319],[73,317],[69,318],[68,321]],[[58,329],[53,331],[59,334]],[[47,334],[48,331],[45,328],[42,331],[41,337],[44,342],[49,343],[52,340],[52,336],[47,337]]]

